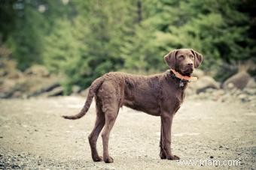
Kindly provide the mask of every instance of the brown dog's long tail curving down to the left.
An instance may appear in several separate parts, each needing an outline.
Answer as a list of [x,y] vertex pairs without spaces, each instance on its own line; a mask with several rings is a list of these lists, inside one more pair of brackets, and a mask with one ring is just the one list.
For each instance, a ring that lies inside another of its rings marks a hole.
[[81,111],[77,115],[63,115],[62,118],[72,119],[72,120],[82,118],[90,108],[90,104],[93,101],[93,97],[96,94],[96,91],[99,89],[100,85],[102,85],[102,82],[104,82],[104,79],[102,77],[99,77],[98,79],[94,80],[92,85],[90,85],[89,93],[87,95],[87,100],[84,103],[84,107],[83,109],[81,109]]

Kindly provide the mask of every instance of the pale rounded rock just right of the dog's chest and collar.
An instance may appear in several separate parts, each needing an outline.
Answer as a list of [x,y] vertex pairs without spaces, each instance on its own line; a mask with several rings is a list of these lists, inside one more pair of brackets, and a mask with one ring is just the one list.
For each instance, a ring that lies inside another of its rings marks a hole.
[[197,91],[197,94],[206,91],[208,88],[218,89],[220,87],[218,82],[216,82],[215,79],[210,76],[203,76],[194,83],[194,89]]

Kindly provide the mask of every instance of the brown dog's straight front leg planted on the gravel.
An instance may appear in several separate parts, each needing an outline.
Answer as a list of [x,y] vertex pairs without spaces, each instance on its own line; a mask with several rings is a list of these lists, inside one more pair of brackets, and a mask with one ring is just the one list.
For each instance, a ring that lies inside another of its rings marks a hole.
[[162,153],[162,155],[166,156],[167,160],[179,160],[179,157],[176,155],[173,155],[171,151],[172,119],[173,119],[173,114],[169,114],[168,112],[163,112],[163,114],[161,114],[161,139],[160,139],[160,142],[162,142],[161,151],[164,152]]

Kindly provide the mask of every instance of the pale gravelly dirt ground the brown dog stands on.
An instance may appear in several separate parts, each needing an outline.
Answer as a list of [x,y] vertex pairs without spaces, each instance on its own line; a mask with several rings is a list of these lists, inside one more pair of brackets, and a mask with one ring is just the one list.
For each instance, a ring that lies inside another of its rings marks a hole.
[[[84,118],[64,120],[84,104],[81,97],[0,100],[0,169],[199,169],[160,160],[160,118],[120,109],[110,137],[114,163],[93,163],[87,136],[95,106]],[[240,160],[256,168],[256,109],[247,103],[185,100],[175,115],[173,153],[181,160]],[[102,154],[102,139],[98,150]],[[215,167],[205,166],[206,169]]]

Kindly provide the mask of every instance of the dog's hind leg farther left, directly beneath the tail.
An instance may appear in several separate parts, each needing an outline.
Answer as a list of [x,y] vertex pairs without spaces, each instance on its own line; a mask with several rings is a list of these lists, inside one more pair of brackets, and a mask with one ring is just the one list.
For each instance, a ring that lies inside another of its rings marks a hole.
[[96,98],[96,122],[95,126],[93,128],[93,131],[90,133],[90,136],[88,137],[89,143],[90,143],[90,150],[92,154],[92,158],[94,162],[102,161],[102,157],[99,156],[96,143],[97,139],[99,137],[99,133],[102,131],[102,128],[105,125],[105,115],[102,112],[101,104],[99,100]]

